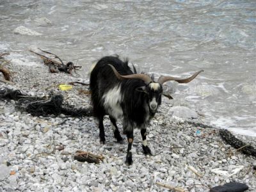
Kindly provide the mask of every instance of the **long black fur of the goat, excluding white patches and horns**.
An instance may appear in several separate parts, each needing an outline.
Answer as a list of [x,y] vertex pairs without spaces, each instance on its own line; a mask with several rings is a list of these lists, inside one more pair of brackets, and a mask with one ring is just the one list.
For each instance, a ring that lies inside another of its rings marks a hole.
[[[160,85],[158,90],[151,90],[148,84],[145,84],[141,79],[125,79],[120,81],[115,76],[111,67],[113,65],[121,75],[129,75],[136,73],[136,68],[133,67],[134,72],[128,66],[128,61],[122,61],[118,56],[106,56],[100,59],[93,68],[90,75],[90,90],[92,92],[93,114],[99,120],[100,129],[100,142],[105,143],[103,117],[108,114],[109,109],[104,108],[104,99],[102,96],[109,90],[113,89],[116,85],[120,85],[120,92],[122,100],[120,106],[123,112],[123,129],[127,134],[129,146],[127,150],[127,164],[132,163],[132,154],[130,152],[133,141],[133,129],[140,128],[146,130],[146,125],[149,120],[155,115],[156,111],[152,111],[149,107],[149,101],[153,97],[157,100],[157,107],[161,104],[161,93],[163,88]],[[115,122],[115,117],[111,116],[111,122]],[[116,129],[118,131],[118,129]],[[119,131],[114,132],[116,140],[120,141],[121,136]],[[143,140],[146,136],[143,136]],[[131,142],[130,142],[131,141]],[[147,146],[143,146],[145,154],[151,154]]]

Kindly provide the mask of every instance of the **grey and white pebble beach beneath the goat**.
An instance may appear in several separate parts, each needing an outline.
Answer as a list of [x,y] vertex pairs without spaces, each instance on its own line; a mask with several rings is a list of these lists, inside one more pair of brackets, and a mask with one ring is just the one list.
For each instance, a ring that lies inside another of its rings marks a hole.
[[[15,88],[34,96],[48,95],[53,91],[61,93],[71,105],[90,106],[90,99],[78,94],[77,89],[86,89],[85,86],[73,86],[67,92],[52,86],[71,81],[88,82],[86,79],[64,73],[51,74],[42,62],[35,66],[9,63],[6,67],[11,70],[16,84],[12,86],[0,82],[0,88]],[[99,130],[92,117],[31,116],[17,111],[15,102],[0,100],[0,166],[6,170],[4,177],[0,178],[0,189],[167,190],[157,186],[156,182],[161,182],[190,191],[207,191],[209,187],[232,181],[247,184],[248,191],[256,188],[253,171],[255,157],[245,156],[225,144],[218,129],[195,126],[173,118],[169,105],[168,99],[163,99],[147,129],[148,144],[155,156],[146,157],[142,153],[140,133],[135,130],[132,147],[134,163],[127,167],[124,163],[127,141],[121,145],[115,142],[108,118],[104,120],[106,145],[100,145]],[[67,121],[61,124],[63,120]],[[201,123],[200,120],[198,122]],[[120,122],[118,127],[121,131]],[[236,136],[256,146],[255,138]],[[122,137],[125,138],[124,134]],[[64,149],[56,150],[60,145]],[[105,159],[100,164],[80,163],[74,160],[76,150],[101,154]],[[193,166],[202,177],[191,172],[188,166]],[[230,177],[213,172],[217,168],[230,170],[237,166],[243,168]],[[15,174],[10,175],[11,172]]]

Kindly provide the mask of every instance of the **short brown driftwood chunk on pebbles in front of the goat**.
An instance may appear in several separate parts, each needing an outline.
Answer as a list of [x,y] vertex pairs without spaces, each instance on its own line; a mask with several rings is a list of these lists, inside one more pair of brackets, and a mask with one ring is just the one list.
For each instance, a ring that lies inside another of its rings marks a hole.
[[74,159],[80,162],[86,161],[88,163],[99,164],[100,161],[103,161],[104,157],[92,154],[90,152],[84,152],[83,150],[77,150]]

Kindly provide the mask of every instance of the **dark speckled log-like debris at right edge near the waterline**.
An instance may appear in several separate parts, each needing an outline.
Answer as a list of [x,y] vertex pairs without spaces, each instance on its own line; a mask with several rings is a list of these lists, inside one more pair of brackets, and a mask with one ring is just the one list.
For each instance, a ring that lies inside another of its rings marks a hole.
[[241,151],[243,154],[248,156],[256,157],[256,148],[252,147],[239,140],[227,129],[220,129],[219,134],[221,138],[228,144],[234,148],[237,148],[237,151]]

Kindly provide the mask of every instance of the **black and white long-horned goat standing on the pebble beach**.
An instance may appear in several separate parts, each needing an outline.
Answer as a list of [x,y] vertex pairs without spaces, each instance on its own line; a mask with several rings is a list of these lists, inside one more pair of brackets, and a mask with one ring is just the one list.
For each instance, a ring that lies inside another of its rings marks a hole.
[[145,154],[151,150],[147,146],[146,126],[161,104],[162,84],[166,81],[189,83],[201,71],[187,79],[177,77],[159,77],[155,82],[146,74],[132,72],[128,61],[121,61],[117,56],[101,58],[90,74],[93,113],[99,120],[100,143],[105,143],[103,125],[104,115],[109,115],[116,140],[122,143],[116,120],[122,118],[124,133],[127,134],[128,148],[125,163],[132,164],[133,129],[139,128],[142,136],[142,148]]

